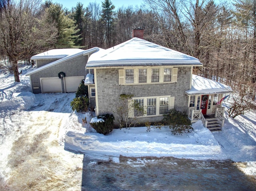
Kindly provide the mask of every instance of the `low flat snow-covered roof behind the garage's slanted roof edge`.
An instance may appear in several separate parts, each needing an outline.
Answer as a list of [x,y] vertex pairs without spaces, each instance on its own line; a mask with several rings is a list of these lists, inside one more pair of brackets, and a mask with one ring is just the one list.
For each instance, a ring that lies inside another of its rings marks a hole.
[[34,55],[31,60],[37,59],[61,59],[69,55],[74,55],[76,53],[83,52],[84,50],[78,48],[64,48],[64,49],[52,49],[46,52]]

